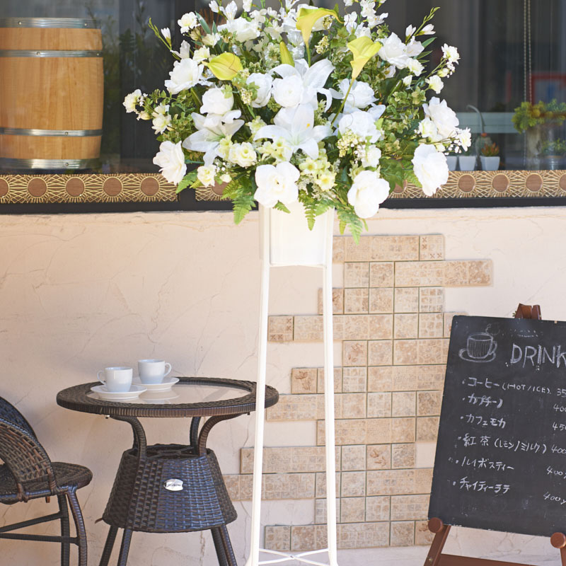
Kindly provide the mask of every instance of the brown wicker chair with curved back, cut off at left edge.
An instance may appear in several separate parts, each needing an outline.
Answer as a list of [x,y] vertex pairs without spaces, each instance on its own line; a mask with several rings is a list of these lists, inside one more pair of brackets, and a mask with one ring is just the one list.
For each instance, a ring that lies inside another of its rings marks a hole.
[[[79,547],[79,566],[86,566],[86,533],[76,499],[76,490],[88,485],[91,470],[76,464],[52,462],[37,440],[27,420],[11,403],[0,397],[0,503],[14,504],[30,499],[57,497],[59,512],[21,521],[0,528],[0,538],[20,541],[61,543],[61,564],[69,566],[71,543]],[[69,509],[76,526],[76,537],[70,536]],[[25,526],[61,521],[61,536],[13,533]]]

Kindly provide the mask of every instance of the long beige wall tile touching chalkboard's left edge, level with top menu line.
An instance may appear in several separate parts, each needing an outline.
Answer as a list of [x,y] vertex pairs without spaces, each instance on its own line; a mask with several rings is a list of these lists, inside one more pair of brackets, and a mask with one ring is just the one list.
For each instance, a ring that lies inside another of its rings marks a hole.
[[444,365],[369,367],[368,391],[441,390],[445,374]]

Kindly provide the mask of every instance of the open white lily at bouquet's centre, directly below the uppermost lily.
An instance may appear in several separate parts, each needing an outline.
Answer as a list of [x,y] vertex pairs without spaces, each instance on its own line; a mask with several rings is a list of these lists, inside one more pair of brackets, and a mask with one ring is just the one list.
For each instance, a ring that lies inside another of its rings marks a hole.
[[302,149],[311,159],[318,158],[318,141],[332,133],[328,125],[314,125],[314,110],[309,104],[299,104],[295,108],[282,108],[273,118],[273,122],[275,125],[258,129],[253,139],[267,137],[277,141],[283,138],[293,153]]

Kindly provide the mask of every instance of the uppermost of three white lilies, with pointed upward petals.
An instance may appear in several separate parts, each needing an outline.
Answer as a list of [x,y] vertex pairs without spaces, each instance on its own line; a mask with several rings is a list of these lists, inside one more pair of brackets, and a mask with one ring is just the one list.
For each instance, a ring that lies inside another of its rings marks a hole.
[[[330,89],[324,88],[324,85],[332,71],[334,71],[334,65],[328,59],[321,59],[312,67],[308,67],[308,63],[304,59],[295,61],[294,67],[288,64],[277,65],[273,72],[282,78],[273,81],[273,98],[278,104],[287,106],[288,104],[282,104],[277,100],[277,91],[282,91],[284,97],[282,101],[284,102],[284,99],[287,98],[284,96],[284,86],[286,83],[292,82],[293,89],[297,89],[296,99],[299,100],[299,104],[311,104],[313,108],[316,108],[318,105],[316,95],[320,93],[326,97],[326,110],[328,110],[330,104],[332,104],[332,93]],[[291,79],[291,77],[294,79]]]

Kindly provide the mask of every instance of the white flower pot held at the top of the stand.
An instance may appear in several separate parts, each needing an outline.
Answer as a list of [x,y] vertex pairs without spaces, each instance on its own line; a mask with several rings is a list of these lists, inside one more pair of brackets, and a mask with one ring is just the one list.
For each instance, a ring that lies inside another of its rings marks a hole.
[[334,209],[316,216],[309,230],[303,205],[297,201],[287,208],[291,214],[260,204],[261,257],[263,243],[268,241],[270,265],[325,265],[328,254],[332,254]]

